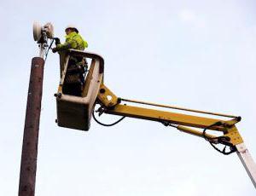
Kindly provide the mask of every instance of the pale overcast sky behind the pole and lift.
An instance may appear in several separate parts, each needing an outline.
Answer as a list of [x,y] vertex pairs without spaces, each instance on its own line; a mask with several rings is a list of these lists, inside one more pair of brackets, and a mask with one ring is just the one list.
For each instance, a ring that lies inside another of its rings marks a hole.
[[[72,23],[105,60],[119,97],[240,115],[256,159],[256,3],[209,1],[4,1],[0,195],[17,195],[31,59],[32,22],[51,21],[64,41]],[[38,146],[37,196],[255,195],[236,153],[162,124],[125,118],[89,132],[55,124],[59,59],[49,54]],[[101,118],[105,123],[117,117]]]

